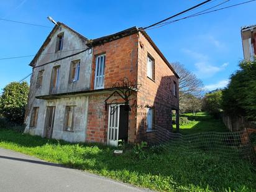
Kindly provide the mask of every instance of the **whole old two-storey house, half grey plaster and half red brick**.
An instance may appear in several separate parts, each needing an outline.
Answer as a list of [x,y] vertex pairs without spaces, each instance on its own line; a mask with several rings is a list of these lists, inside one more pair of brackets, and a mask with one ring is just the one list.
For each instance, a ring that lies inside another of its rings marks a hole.
[[94,40],[58,22],[30,63],[25,132],[69,142],[152,139],[171,130],[178,75],[144,30]]

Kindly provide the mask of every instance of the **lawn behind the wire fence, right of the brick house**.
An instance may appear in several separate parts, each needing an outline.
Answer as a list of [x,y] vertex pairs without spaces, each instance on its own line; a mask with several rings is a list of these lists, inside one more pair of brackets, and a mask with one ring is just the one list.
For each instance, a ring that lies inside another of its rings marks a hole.
[[[190,122],[180,126],[181,134],[196,134],[198,132],[228,132],[221,119],[214,119],[206,112],[198,112],[196,115],[192,113],[181,114],[181,117],[188,117]],[[175,126],[173,126],[175,128]]]

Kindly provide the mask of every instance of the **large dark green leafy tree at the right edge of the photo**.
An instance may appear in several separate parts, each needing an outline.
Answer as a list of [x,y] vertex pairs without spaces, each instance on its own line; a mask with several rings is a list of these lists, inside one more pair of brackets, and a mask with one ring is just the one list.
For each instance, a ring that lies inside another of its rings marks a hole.
[[256,121],[256,60],[239,63],[239,70],[231,75],[223,91],[222,106],[227,114]]

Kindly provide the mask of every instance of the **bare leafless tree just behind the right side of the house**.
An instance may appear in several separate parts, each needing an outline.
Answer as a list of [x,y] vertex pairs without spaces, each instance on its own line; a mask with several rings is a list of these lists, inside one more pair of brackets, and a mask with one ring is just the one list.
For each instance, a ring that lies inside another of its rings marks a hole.
[[201,98],[204,94],[203,82],[191,73],[191,71],[188,71],[181,63],[172,63],[172,66],[178,76],[180,76],[179,99],[181,112],[193,111],[191,104],[193,104],[195,111],[199,111],[195,103],[201,103]]

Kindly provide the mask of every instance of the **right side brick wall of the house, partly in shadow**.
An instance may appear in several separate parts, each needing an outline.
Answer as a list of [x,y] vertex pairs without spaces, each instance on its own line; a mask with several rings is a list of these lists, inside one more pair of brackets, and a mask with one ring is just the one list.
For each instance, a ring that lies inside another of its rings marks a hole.
[[[155,60],[155,80],[147,77],[147,56]],[[171,109],[178,109],[178,96],[173,96],[173,81],[178,79],[167,63],[158,55],[145,36],[139,32],[138,46],[138,83],[141,85],[137,94],[137,140],[147,139],[147,109],[146,105],[155,109],[155,124],[171,129]],[[178,92],[178,91],[177,91]],[[152,137],[152,134],[148,134]]]

